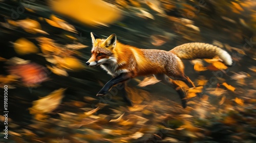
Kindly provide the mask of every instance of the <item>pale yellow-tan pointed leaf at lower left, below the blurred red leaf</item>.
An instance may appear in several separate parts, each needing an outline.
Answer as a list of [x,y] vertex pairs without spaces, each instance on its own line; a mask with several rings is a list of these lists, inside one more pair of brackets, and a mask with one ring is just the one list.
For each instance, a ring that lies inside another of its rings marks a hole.
[[66,89],[60,88],[58,90],[54,90],[51,92],[48,96],[43,97],[39,100],[36,100],[33,102],[33,106],[29,109],[31,114],[37,114],[37,113],[49,113],[56,109],[62,98],[63,98],[63,92]]

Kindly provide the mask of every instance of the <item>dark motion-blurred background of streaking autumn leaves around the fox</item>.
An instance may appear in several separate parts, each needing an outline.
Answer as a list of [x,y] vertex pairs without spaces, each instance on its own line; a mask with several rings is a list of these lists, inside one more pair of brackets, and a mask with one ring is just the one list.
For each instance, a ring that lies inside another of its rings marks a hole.
[[[125,88],[134,103],[129,107],[119,87],[96,97],[112,77],[84,64],[90,32],[102,38],[115,33],[141,49],[215,44],[234,64],[184,61],[197,86],[188,92],[186,109],[174,89],[152,76],[132,79]],[[0,0],[0,39],[0,142],[256,140],[255,1]]]

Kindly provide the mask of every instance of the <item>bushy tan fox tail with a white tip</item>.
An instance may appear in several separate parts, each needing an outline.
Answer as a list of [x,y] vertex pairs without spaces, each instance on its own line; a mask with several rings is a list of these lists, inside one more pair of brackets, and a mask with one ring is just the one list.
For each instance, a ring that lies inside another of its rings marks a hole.
[[231,56],[220,47],[212,44],[199,42],[185,43],[176,46],[169,52],[176,54],[180,59],[184,60],[211,59],[215,56],[219,56],[226,65],[232,65]]

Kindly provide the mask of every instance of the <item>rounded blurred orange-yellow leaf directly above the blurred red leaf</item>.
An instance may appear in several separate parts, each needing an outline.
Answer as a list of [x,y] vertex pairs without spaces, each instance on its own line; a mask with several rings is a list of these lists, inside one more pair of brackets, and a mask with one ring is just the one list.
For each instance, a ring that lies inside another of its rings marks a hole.
[[13,44],[15,52],[19,55],[26,55],[39,52],[35,44],[27,40],[26,38],[19,38]]

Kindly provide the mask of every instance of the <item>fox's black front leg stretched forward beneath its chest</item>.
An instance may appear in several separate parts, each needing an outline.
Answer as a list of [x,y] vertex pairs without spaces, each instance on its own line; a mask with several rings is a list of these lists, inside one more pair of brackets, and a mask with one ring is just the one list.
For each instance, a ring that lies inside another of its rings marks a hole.
[[108,83],[106,83],[104,85],[104,87],[102,89],[100,89],[100,91],[97,93],[97,97],[102,97],[104,96],[110,89],[112,86],[122,83],[124,81],[127,81],[131,78],[131,76],[127,73],[122,73],[119,76],[111,79]]

